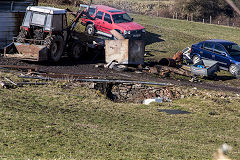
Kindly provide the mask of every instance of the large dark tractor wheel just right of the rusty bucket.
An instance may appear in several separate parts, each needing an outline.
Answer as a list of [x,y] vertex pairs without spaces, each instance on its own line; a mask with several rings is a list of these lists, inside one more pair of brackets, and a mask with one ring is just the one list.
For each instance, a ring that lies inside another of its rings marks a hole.
[[53,36],[49,48],[49,58],[53,62],[60,60],[64,49],[64,42],[61,36]]

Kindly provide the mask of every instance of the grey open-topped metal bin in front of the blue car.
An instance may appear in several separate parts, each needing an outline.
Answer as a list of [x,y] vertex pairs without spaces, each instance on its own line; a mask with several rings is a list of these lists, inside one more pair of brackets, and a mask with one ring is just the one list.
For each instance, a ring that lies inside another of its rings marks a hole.
[[192,75],[199,76],[214,76],[214,73],[219,71],[218,62],[212,60],[201,60],[191,66]]

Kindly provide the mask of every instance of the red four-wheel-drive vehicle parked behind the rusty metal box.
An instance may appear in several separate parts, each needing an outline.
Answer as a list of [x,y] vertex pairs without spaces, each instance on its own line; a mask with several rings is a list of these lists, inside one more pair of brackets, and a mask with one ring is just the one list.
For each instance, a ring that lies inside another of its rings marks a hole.
[[86,26],[89,35],[113,37],[110,31],[115,29],[127,39],[141,39],[146,32],[145,28],[133,22],[133,18],[126,12],[112,7],[92,5],[89,8],[89,15],[92,19],[82,18],[82,24]]

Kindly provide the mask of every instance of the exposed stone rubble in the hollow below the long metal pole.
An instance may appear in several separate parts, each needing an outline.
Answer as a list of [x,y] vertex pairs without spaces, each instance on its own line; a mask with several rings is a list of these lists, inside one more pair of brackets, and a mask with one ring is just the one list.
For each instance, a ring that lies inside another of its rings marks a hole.
[[143,103],[145,99],[161,97],[163,101],[176,98],[171,89],[166,87],[148,86],[130,83],[91,83],[92,89],[101,91],[114,102]]

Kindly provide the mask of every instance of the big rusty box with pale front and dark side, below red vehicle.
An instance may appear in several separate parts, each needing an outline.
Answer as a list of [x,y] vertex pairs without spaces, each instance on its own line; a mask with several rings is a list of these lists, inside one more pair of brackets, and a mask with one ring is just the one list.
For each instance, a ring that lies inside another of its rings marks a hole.
[[117,61],[121,64],[143,64],[145,45],[140,40],[106,40],[106,63]]

